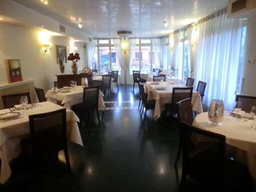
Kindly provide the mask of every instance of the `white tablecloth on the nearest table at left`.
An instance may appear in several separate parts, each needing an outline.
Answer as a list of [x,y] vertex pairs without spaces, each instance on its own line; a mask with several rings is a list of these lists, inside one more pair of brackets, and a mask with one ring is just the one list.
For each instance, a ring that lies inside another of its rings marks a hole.
[[[20,140],[29,134],[29,115],[47,113],[62,109],[62,106],[51,102],[42,102],[41,106],[36,106],[34,110],[29,110],[27,115],[22,115],[18,119],[0,122],[0,158],[2,159],[0,183],[5,183],[11,176],[9,162],[18,156],[21,146]],[[0,113],[9,112],[9,109],[1,110]],[[78,129],[79,118],[75,113],[67,109],[67,134],[68,138],[79,145],[82,139]]]

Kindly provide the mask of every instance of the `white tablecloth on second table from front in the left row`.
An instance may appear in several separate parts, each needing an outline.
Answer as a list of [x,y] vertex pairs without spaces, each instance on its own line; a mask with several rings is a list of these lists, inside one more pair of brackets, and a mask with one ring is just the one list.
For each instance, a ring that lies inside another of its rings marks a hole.
[[[99,91],[99,109],[101,111],[104,110],[105,104],[103,101],[103,93]],[[53,93],[51,90],[46,92],[46,98],[48,101],[55,102]],[[77,86],[75,89],[72,89],[71,92],[67,93],[57,93],[56,100],[61,101],[61,104],[64,104],[65,108],[71,109],[71,107],[75,104],[82,103],[83,98],[83,88],[81,86]]]

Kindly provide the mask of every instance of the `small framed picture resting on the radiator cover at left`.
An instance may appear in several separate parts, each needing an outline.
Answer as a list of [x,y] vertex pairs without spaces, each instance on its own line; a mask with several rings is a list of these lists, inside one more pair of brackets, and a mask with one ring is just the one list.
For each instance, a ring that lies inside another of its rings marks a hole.
[[6,59],[5,65],[9,83],[22,81],[19,59]]

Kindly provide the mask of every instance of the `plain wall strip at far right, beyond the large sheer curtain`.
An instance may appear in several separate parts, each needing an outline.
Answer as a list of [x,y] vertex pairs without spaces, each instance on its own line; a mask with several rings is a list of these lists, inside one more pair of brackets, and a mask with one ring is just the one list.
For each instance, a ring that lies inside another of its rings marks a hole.
[[[249,63],[253,60],[254,64]],[[256,18],[251,19],[247,26],[247,42],[242,78],[245,78],[242,95],[256,96]]]

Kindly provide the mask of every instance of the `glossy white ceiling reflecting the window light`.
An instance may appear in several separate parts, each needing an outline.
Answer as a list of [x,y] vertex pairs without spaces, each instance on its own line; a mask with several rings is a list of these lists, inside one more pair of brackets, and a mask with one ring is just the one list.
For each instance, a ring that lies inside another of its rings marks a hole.
[[116,37],[118,30],[131,30],[136,37],[161,36],[228,5],[228,0],[48,0],[48,5],[41,0],[14,1],[93,37]]

